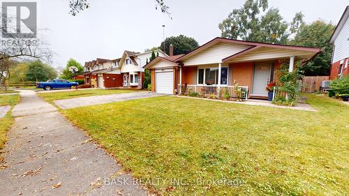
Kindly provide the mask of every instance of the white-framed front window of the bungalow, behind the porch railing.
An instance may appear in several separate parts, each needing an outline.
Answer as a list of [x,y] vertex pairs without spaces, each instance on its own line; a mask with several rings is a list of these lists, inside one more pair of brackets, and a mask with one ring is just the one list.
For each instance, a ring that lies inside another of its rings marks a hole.
[[[217,85],[218,68],[198,68],[198,84]],[[228,84],[228,67],[221,68],[221,84]]]

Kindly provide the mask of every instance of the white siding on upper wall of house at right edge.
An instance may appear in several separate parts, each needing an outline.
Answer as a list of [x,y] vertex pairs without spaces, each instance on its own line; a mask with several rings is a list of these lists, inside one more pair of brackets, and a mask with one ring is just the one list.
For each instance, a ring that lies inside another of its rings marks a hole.
[[334,40],[333,63],[349,57],[349,17]]

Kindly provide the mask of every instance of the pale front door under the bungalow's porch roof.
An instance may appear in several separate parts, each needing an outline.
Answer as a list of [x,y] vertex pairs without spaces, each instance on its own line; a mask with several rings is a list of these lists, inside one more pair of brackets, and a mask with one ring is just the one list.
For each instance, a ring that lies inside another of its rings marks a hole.
[[269,63],[255,64],[251,96],[268,96],[265,87],[270,82],[271,71],[272,66]]

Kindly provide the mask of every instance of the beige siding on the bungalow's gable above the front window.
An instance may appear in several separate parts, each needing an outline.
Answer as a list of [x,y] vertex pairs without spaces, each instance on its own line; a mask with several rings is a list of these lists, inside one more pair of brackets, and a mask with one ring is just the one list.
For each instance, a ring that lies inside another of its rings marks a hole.
[[249,45],[218,43],[183,61],[184,66],[194,66],[209,63],[221,63],[222,59],[246,50]]

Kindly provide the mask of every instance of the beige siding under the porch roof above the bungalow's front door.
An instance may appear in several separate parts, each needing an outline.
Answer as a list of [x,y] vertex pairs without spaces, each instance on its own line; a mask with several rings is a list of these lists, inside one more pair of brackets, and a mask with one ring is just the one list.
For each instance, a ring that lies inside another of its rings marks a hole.
[[231,62],[242,62],[242,61],[259,61],[266,59],[279,59],[279,58],[288,58],[289,56],[304,56],[309,58],[313,56],[313,52],[302,52],[298,50],[283,50],[281,48],[271,48],[271,47],[262,47],[259,50],[254,50],[244,54],[243,56],[237,56],[237,58],[232,59]]

